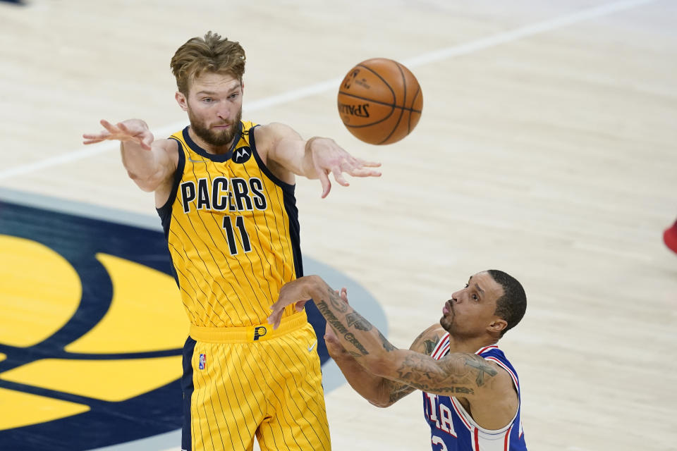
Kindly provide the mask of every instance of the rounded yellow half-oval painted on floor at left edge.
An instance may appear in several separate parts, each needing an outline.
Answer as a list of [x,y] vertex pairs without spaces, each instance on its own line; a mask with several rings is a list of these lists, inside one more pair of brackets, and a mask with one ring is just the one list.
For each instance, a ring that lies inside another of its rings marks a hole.
[[73,266],[49,247],[0,235],[0,342],[28,347],[59,330],[83,288]]

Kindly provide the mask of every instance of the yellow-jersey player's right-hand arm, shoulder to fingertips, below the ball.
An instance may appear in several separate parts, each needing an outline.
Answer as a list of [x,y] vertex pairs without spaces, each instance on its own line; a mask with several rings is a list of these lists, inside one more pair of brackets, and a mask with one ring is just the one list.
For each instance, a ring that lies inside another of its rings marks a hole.
[[[353,177],[379,177],[374,168],[381,163],[365,161],[348,154],[343,147],[325,137],[303,140],[295,130],[281,123],[270,123],[257,129],[257,149],[267,149],[267,160],[273,161],[296,175],[318,179],[322,183],[322,197],[331,190],[329,174],[339,185],[350,185],[344,173]],[[264,143],[261,147],[259,144]]]

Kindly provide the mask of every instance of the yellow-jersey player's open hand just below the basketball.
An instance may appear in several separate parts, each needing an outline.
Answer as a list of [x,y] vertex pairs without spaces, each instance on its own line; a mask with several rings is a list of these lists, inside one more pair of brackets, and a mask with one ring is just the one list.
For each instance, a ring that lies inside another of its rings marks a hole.
[[329,174],[339,185],[348,186],[350,183],[343,177],[343,173],[353,177],[380,177],[381,173],[372,168],[378,168],[381,163],[365,161],[348,154],[343,147],[329,138],[315,138],[310,143],[312,163],[322,183],[322,199],[327,197],[331,190]]

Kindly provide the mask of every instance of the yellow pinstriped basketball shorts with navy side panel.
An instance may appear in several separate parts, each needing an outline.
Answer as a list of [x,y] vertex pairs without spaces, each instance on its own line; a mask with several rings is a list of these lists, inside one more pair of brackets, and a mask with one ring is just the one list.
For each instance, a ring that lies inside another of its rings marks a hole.
[[183,347],[187,451],[331,450],[315,330],[305,311],[242,328],[191,326]]

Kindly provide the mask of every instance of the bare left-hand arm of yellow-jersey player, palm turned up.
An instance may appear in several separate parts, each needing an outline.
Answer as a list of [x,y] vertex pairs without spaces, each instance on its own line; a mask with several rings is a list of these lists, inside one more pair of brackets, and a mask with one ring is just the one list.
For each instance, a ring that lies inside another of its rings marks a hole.
[[100,121],[104,130],[85,133],[84,144],[120,141],[122,162],[132,180],[144,191],[155,191],[171,179],[177,164],[177,146],[171,140],[155,141],[148,125],[140,119],[116,124]]

